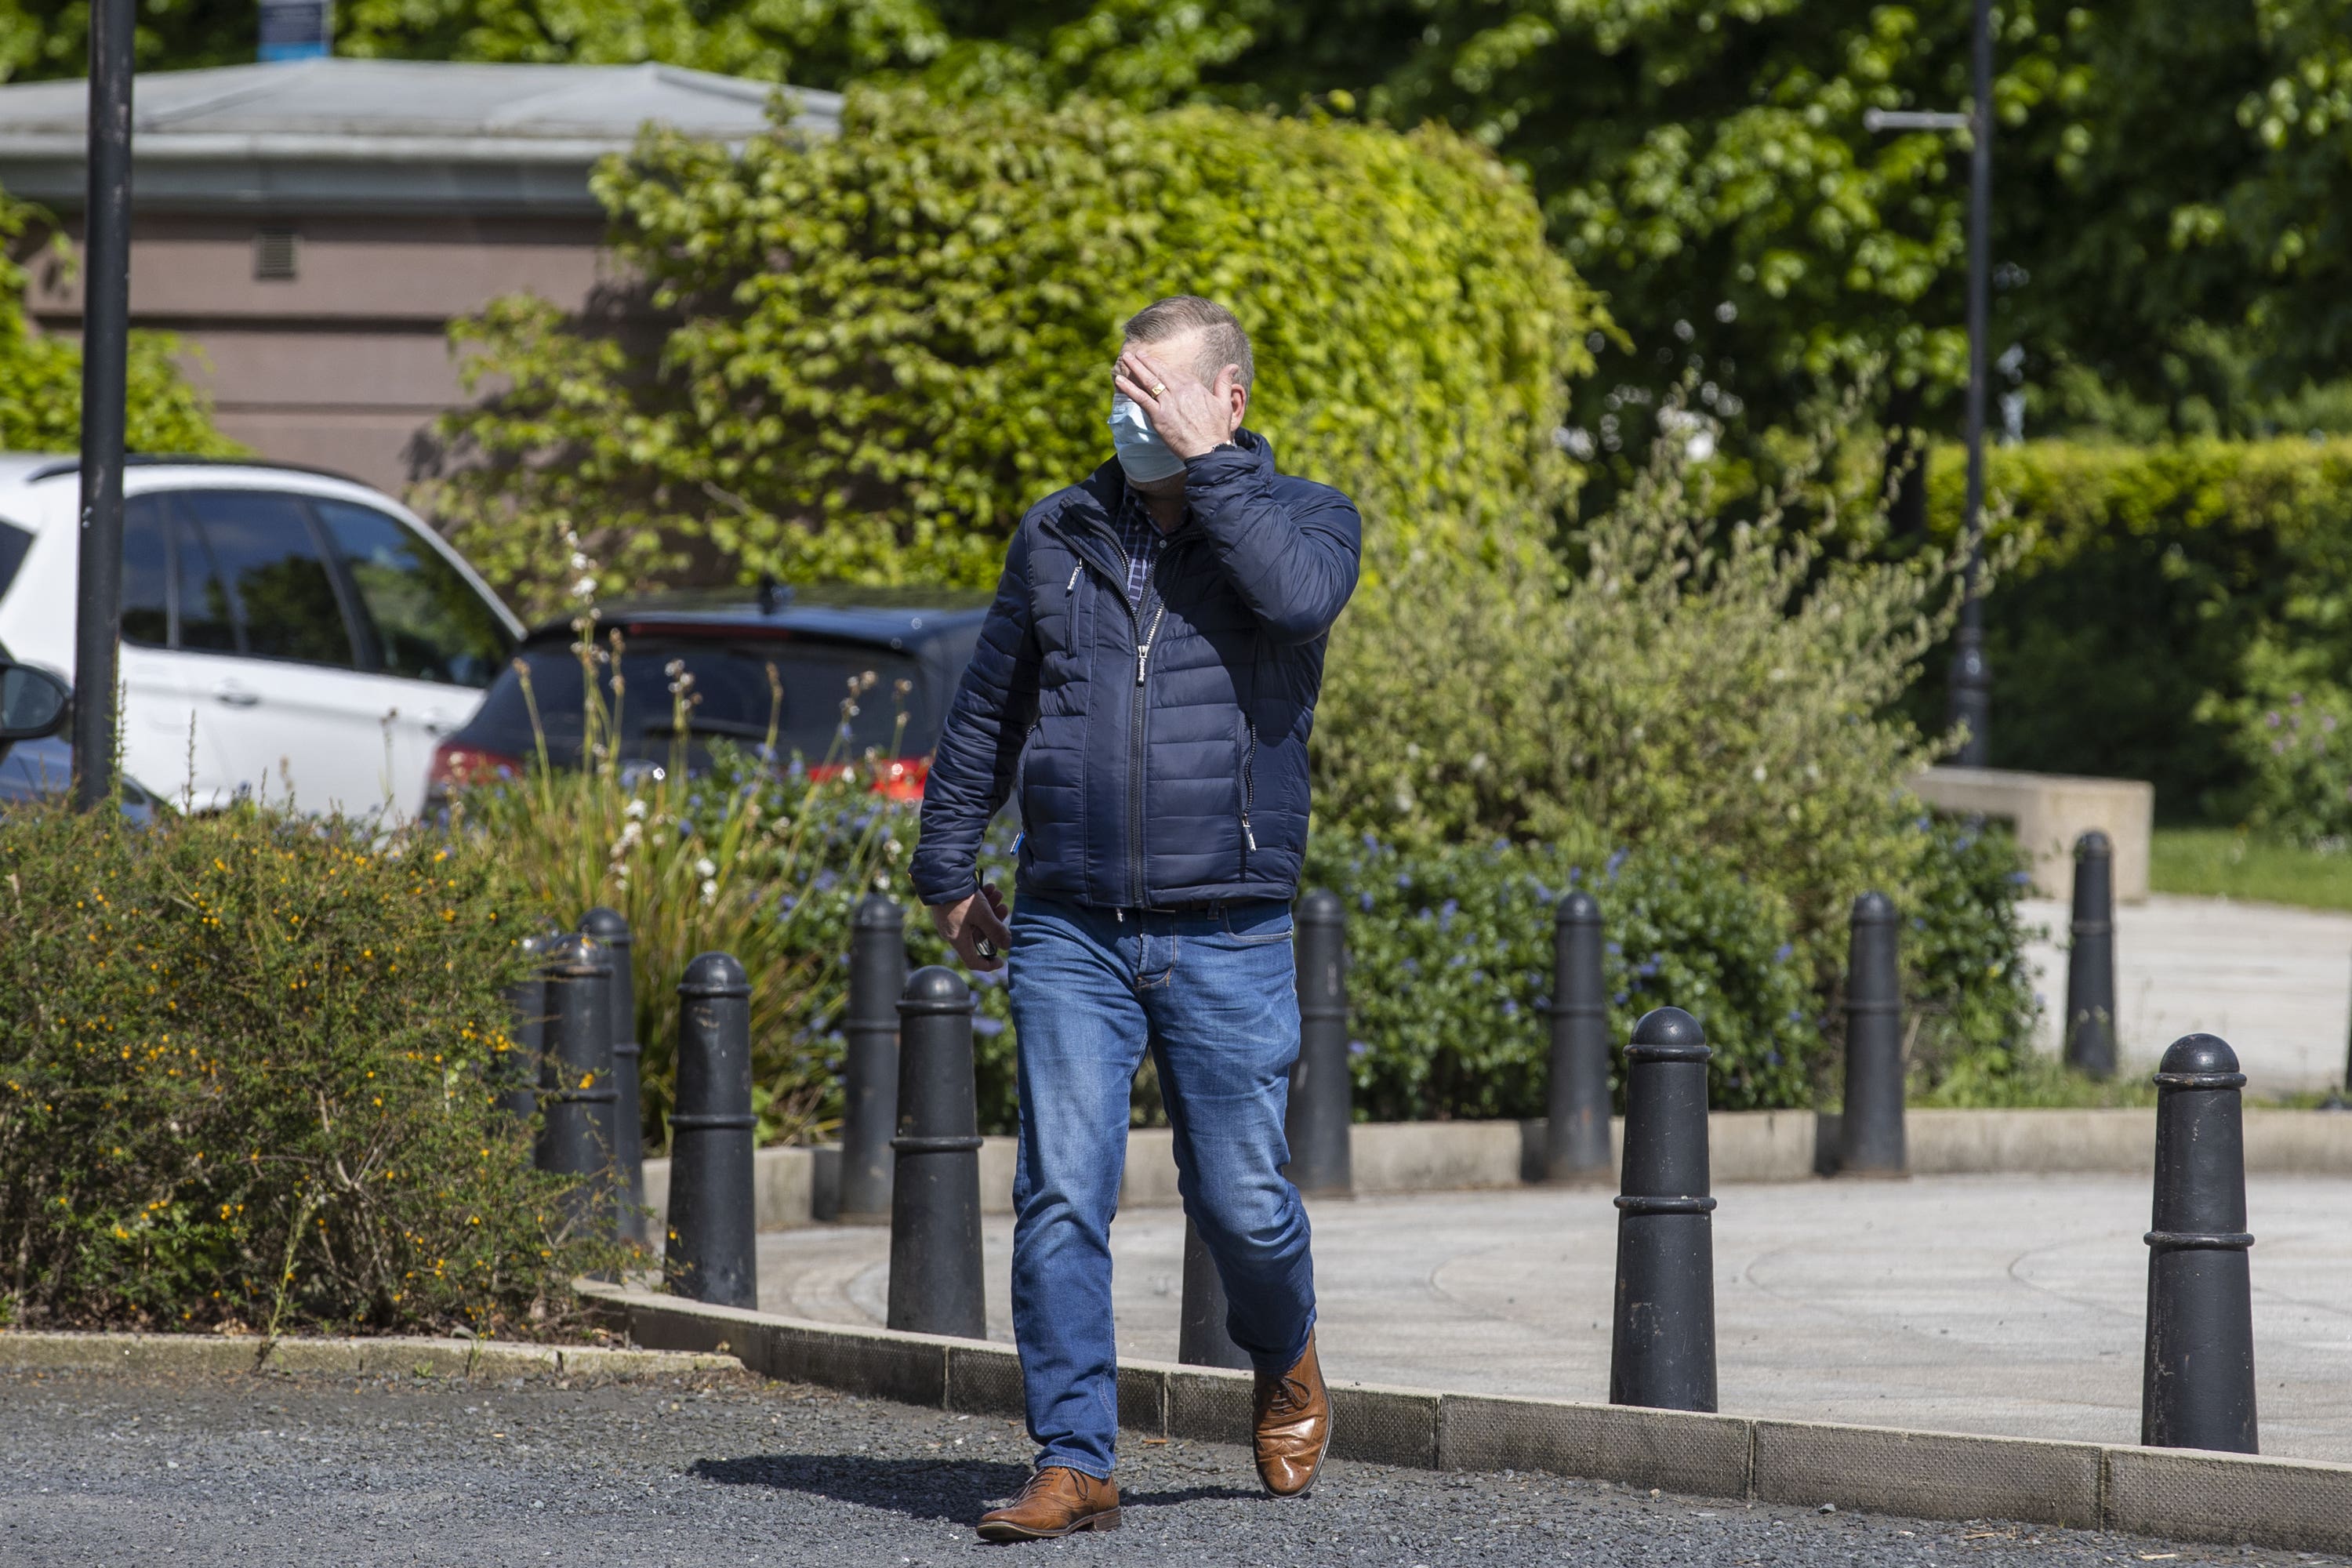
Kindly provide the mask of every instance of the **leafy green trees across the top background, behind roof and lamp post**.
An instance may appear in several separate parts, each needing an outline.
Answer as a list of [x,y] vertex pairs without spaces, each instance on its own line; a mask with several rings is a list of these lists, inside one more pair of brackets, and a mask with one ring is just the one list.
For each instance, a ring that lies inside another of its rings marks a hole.
[[[80,71],[85,0],[0,0],[0,68]],[[247,59],[252,5],[146,0],[151,66]],[[1131,108],[1319,101],[1496,148],[1625,324],[1581,395],[1597,444],[1693,362],[1708,418],[1804,423],[1886,364],[1889,414],[1964,374],[1964,136],[1870,108],[1969,99],[1971,0],[346,0],[339,49],[663,59],[840,87]],[[1997,343],[2037,428],[2343,428],[2352,289],[2347,0],[2006,0]],[[1609,400],[1616,400],[1613,404]]]

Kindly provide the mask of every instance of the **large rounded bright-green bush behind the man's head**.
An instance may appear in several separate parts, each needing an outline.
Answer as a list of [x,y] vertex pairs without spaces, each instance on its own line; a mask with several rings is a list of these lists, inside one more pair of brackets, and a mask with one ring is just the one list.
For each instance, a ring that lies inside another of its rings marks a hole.
[[1014,520],[1108,458],[1120,322],[1185,292],[1249,327],[1284,465],[1494,552],[1486,520],[1559,482],[1606,327],[1524,186],[1442,129],[858,92],[840,139],[649,134],[597,190],[666,341],[524,296],[456,327],[499,390],[447,421],[430,503],[524,599],[560,592],[567,529],[612,588],[689,552],[995,581]]

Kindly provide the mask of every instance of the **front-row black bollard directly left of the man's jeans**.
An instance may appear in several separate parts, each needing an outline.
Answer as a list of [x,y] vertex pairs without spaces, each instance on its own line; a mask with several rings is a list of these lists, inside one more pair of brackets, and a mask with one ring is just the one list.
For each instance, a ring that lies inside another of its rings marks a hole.
[[917,969],[898,1001],[898,1168],[889,1201],[889,1326],[988,1338],[981,1293],[981,1112],[971,992]]

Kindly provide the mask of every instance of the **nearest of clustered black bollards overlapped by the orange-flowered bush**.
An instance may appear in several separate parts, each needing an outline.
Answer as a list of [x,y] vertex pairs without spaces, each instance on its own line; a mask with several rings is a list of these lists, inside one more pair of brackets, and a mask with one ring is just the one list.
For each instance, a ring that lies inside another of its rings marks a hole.
[[539,1168],[586,1175],[564,1215],[609,1234],[612,1145],[621,1091],[612,1084],[612,959],[593,936],[564,933],[548,952],[548,1037],[539,1058]]

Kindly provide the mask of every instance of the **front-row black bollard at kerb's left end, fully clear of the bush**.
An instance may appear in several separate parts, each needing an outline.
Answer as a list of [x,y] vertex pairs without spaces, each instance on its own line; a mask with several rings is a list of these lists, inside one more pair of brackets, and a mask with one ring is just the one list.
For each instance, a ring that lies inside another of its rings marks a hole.
[[750,980],[724,952],[677,983],[677,1110],[670,1112],[670,1218],[661,1276],[673,1295],[760,1305],[750,1190]]

